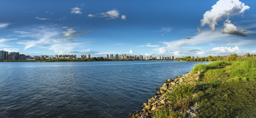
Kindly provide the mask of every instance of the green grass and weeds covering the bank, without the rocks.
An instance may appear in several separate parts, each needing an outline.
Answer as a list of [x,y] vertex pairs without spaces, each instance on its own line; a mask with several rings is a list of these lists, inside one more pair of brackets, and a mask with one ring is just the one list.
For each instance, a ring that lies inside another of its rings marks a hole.
[[256,118],[256,58],[197,64],[192,72],[198,71],[195,86],[183,83],[165,94],[170,102],[157,108],[154,118],[185,117],[195,102],[197,118]]

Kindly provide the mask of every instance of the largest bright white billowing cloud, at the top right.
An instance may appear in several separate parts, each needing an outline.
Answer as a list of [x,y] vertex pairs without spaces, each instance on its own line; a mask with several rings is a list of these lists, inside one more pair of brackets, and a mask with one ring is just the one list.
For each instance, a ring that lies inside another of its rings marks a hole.
[[215,26],[218,25],[217,22],[223,20],[222,18],[229,19],[233,15],[243,15],[245,10],[249,8],[249,6],[246,6],[245,3],[239,0],[219,0],[212,6],[211,10],[205,12],[203,19],[200,21],[201,26],[207,24],[212,31],[215,31]]

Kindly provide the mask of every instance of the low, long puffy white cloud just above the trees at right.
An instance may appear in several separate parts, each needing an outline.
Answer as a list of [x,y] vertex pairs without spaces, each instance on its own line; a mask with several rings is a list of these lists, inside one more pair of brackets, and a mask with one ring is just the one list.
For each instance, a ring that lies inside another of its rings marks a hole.
[[235,46],[234,48],[231,47],[216,47],[211,50],[211,52],[215,53],[239,53],[241,50],[238,46]]

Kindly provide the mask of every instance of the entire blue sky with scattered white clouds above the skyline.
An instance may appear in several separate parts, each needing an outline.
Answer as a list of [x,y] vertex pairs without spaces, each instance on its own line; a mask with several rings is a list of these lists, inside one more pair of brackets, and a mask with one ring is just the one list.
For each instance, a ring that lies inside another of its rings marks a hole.
[[5,0],[0,50],[91,57],[255,54],[255,5],[255,0]]

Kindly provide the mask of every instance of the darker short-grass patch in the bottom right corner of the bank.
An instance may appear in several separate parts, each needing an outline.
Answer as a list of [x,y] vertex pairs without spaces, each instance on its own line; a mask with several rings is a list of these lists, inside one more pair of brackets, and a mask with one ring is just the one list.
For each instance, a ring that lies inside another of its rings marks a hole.
[[256,82],[221,84],[198,92],[198,118],[256,117]]

